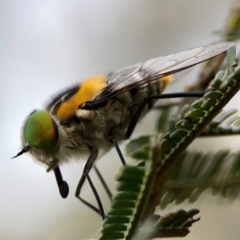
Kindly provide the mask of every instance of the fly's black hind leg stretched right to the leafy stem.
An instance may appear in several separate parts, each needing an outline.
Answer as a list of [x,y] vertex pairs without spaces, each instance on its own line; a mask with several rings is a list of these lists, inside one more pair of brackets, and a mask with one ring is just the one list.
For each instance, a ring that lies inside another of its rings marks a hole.
[[126,139],[129,138],[132,135],[132,132],[134,128],[136,127],[136,124],[138,122],[138,119],[140,118],[145,106],[153,99],[166,99],[166,98],[189,98],[189,97],[202,97],[207,91],[204,92],[180,92],[180,93],[166,93],[161,95],[154,95],[154,96],[148,96],[144,98],[138,107],[137,111],[133,115],[133,118],[128,126],[127,133],[126,133]]

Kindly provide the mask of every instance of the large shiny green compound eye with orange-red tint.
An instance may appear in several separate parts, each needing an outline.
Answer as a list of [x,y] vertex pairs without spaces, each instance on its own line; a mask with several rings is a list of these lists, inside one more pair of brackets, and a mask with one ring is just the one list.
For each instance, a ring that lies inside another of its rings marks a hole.
[[25,144],[43,151],[52,151],[58,144],[58,127],[45,111],[33,112],[23,127]]

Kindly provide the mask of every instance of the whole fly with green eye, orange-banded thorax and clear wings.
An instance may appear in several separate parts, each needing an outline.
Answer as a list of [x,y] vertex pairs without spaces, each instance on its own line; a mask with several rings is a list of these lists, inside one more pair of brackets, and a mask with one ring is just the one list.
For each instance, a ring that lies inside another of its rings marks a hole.
[[[55,95],[44,110],[31,112],[22,128],[22,150],[53,170],[60,194],[69,193],[59,165],[71,159],[86,158],[75,196],[105,217],[104,209],[89,172],[100,150],[115,147],[125,165],[118,144],[128,139],[138,120],[160,98],[202,97],[205,92],[162,94],[169,76],[225,52],[233,43],[224,42],[153,58],[108,75],[88,78]],[[80,197],[85,180],[96,198],[98,208]]]

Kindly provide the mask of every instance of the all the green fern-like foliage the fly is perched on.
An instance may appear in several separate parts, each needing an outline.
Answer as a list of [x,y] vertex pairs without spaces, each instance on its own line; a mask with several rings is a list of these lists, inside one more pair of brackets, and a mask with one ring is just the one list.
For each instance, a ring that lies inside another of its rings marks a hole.
[[[202,153],[187,151],[197,137],[239,133],[236,110],[222,111],[240,89],[240,65],[235,47],[227,53],[227,68],[218,72],[209,91],[172,114],[172,105],[160,113],[157,133],[129,142],[126,152],[141,160],[123,167],[117,177],[117,192],[98,239],[150,239],[182,237],[199,218],[199,210],[179,210],[166,216],[154,215],[185,199],[195,202],[202,192],[236,198],[239,194],[240,154],[229,150]],[[221,112],[221,113],[220,113]],[[228,171],[223,171],[225,163]],[[149,224],[150,223],[150,224]],[[140,234],[140,235],[139,235]]]

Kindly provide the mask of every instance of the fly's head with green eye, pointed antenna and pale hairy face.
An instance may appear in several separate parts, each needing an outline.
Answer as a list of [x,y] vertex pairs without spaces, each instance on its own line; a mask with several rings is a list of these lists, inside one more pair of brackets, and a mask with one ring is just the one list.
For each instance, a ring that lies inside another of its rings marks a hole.
[[54,119],[45,111],[34,111],[25,120],[22,128],[22,151],[15,157],[29,152],[35,159],[51,167],[56,161],[59,148],[59,128]]

